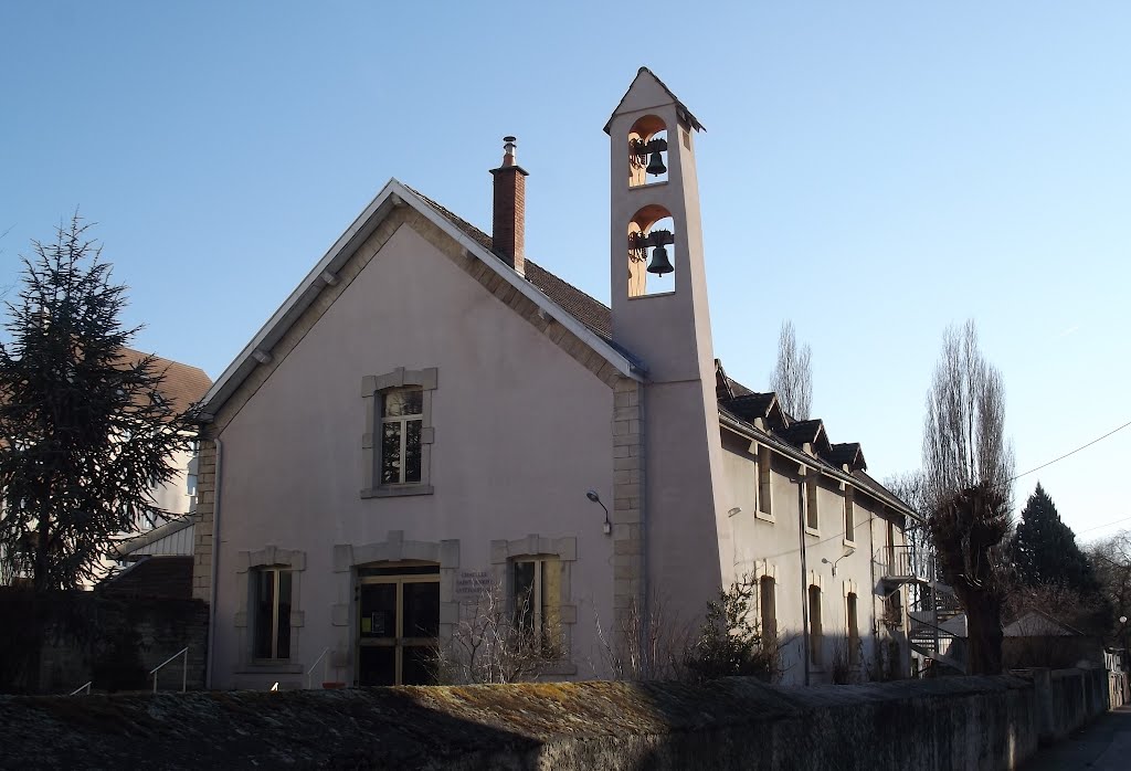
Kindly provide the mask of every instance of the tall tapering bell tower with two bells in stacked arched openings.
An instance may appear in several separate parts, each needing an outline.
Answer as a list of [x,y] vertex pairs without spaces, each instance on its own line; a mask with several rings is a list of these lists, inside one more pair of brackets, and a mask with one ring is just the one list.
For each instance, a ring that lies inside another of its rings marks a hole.
[[653,591],[675,591],[684,618],[701,615],[729,580],[719,556],[732,553],[696,181],[702,130],[647,68],[605,124],[613,340],[647,369],[646,573]]

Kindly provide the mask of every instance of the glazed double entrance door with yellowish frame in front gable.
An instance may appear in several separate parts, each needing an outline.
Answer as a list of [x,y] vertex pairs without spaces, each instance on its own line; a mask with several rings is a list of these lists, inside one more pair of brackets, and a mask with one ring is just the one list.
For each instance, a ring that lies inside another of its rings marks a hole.
[[357,685],[428,685],[435,678],[440,569],[360,569]]

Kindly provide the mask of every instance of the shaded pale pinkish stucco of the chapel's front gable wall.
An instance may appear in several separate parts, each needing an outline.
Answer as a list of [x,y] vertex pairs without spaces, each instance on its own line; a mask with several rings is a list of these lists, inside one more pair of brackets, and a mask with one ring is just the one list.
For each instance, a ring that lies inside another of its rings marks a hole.
[[[371,430],[362,378],[397,367],[438,370],[435,492],[362,499],[362,434]],[[594,617],[612,616],[612,540],[586,491],[612,505],[612,410],[607,386],[402,226],[219,436],[214,685],[279,679],[240,664],[240,552],[304,553],[302,626],[292,641],[304,672],[337,646],[333,606],[349,601],[335,545],[375,544],[397,530],[406,542],[458,540],[461,571],[489,570],[494,539],[576,537],[572,660],[578,677],[592,676]],[[345,682],[354,678],[348,659],[335,673]]]

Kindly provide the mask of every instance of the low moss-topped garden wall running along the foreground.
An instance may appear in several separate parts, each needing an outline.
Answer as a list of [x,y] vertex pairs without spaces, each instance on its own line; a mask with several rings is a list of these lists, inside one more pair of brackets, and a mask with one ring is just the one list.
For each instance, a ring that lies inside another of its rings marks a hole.
[[1106,709],[1104,678],[0,696],[0,766],[1005,769]]

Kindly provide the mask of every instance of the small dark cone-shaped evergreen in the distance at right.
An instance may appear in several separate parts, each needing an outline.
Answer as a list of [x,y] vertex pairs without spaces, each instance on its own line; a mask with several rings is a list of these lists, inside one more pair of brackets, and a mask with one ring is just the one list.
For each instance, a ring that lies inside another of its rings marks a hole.
[[1076,544],[1076,534],[1061,521],[1056,504],[1039,482],[1021,511],[1011,552],[1024,586],[1061,586],[1081,595],[1099,589],[1091,563]]

